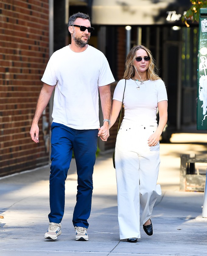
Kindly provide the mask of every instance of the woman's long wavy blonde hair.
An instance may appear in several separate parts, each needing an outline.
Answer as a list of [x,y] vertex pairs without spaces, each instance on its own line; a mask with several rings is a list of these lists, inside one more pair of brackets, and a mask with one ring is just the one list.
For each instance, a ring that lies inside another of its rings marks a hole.
[[[136,58],[137,50],[139,50],[139,49],[145,50],[147,52],[147,55],[150,57],[149,67],[147,69],[147,79],[152,80],[152,81],[161,79],[154,72],[155,62],[154,62],[154,59],[153,59],[151,51],[148,48],[146,48],[145,46],[143,46],[143,45],[136,45],[136,46],[134,46],[130,50],[130,52],[128,53],[127,58],[126,58],[126,63],[125,63],[125,72],[124,72],[123,79],[130,79],[130,78],[132,78],[135,75],[136,67],[134,66],[134,61],[135,61],[135,58]],[[136,71],[137,71],[137,69],[136,69]]]

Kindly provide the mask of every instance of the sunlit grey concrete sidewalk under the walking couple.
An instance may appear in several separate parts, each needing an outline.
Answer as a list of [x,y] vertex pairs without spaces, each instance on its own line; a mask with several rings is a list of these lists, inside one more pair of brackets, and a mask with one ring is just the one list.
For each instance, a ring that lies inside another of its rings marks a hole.
[[207,134],[175,134],[161,143],[158,183],[163,195],[153,210],[153,236],[141,229],[138,243],[119,240],[116,177],[112,153],[100,155],[93,175],[89,241],[75,241],[72,213],[77,175],[75,163],[66,180],[62,234],[44,239],[48,228],[49,166],[0,180],[0,255],[207,255],[207,218],[202,218],[202,192],[181,192],[180,154],[207,153]]

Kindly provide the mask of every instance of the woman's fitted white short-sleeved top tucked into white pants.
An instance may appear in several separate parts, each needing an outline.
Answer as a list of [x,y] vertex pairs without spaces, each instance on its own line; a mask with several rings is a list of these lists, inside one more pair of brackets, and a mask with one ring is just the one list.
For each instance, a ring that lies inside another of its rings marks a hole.
[[[122,102],[125,79],[120,80],[114,90],[113,100]],[[137,87],[140,87],[139,90]],[[167,100],[167,91],[161,79],[135,82],[126,80],[124,93],[124,122],[139,125],[157,126],[156,113],[158,102]]]

